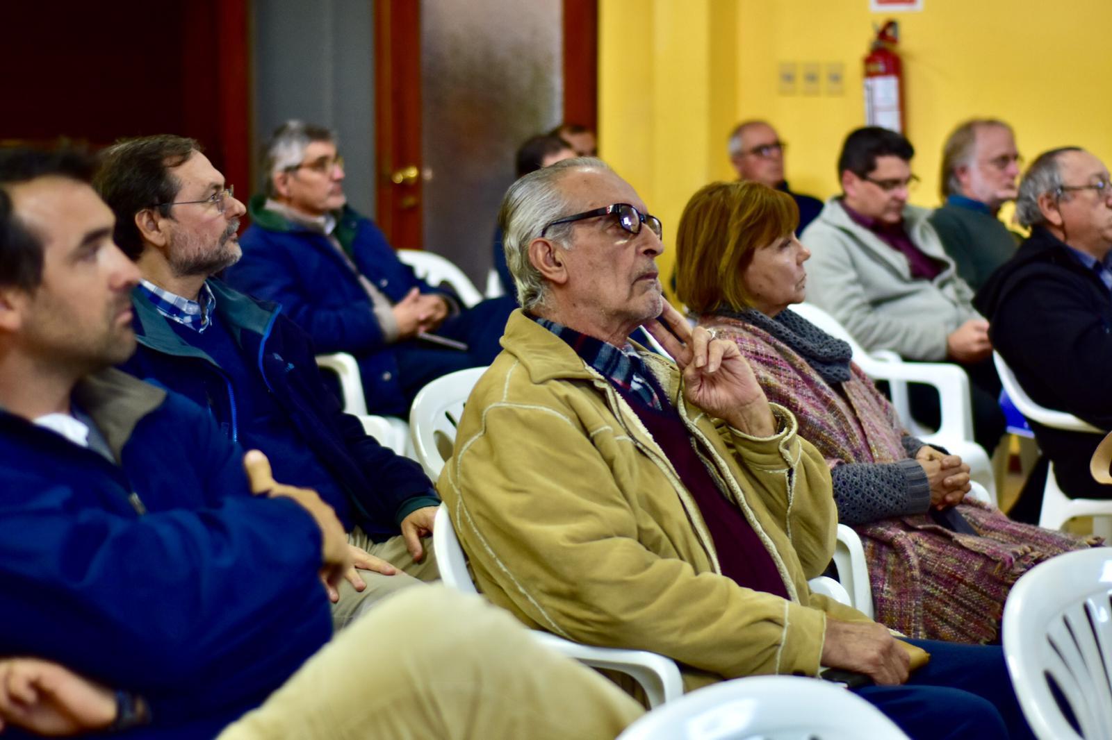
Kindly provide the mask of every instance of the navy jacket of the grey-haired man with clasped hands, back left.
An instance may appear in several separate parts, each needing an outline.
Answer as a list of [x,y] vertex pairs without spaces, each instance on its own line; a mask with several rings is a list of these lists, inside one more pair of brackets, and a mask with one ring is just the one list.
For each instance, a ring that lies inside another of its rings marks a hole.
[[[239,240],[244,258],[228,268],[225,279],[245,293],[279,303],[318,352],[353,354],[364,390],[378,408],[406,409],[398,362],[359,279],[327,237],[266,210],[264,200],[251,200],[252,223]],[[455,299],[398,260],[374,221],[346,207],[337,216],[337,239],[359,272],[393,302],[413,288]]]

